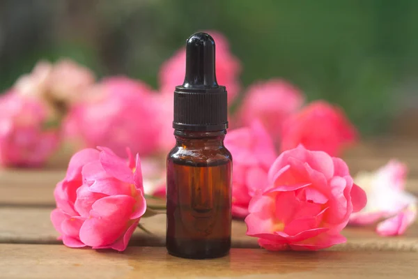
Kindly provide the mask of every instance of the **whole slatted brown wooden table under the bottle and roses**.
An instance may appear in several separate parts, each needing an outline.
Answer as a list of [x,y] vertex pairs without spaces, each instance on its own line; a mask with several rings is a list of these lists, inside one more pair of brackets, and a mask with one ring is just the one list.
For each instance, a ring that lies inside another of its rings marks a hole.
[[[361,144],[345,159],[352,173],[398,158],[410,167],[407,188],[418,195],[418,144]],[[233,249],[220,259],[167,255],[165,217],[143,219],[153,236],[135,232],[125,252],[66,248],[49,220],[52,191],[64,169],[0,171],[0,278],[418,278],[418,223],[383,238],[373,227],[348,227],[348,241],[320,252],[268,252],[233,222]]]

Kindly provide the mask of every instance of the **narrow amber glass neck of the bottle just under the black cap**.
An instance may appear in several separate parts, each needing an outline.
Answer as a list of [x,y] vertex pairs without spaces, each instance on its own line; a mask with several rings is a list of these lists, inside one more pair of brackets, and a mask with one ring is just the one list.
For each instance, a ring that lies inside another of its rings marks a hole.
[[185,130],[174,130],[177,146],[183,148],[214,148],[223,147],[226,130],[211,132],[195,132]]

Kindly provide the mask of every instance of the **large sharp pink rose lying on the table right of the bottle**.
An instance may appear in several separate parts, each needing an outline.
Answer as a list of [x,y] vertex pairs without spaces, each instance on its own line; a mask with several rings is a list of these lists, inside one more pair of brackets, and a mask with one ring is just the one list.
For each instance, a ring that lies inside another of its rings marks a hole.
[[247,235],[268,250],[319,250],[346,239],[351,213],[366,205],[346,163],[303,146],[281,153],[268,172],[269,188],[249,202]]

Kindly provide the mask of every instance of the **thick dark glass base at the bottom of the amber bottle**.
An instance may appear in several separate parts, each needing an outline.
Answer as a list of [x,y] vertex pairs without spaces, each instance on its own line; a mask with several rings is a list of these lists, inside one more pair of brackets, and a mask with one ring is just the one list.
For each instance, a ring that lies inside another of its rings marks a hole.
[[167,237],[167,251],[174,257],[213,259],[229,254],[231,239],[179,240]]

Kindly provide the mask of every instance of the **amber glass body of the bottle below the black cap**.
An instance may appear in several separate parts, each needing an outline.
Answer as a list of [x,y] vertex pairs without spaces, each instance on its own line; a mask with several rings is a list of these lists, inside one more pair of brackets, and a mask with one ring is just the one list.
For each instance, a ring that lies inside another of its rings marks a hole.
[[221,257],[231,248],[232,156],[226,130],[175,130],[167,157],[167,250],[194,259]]

